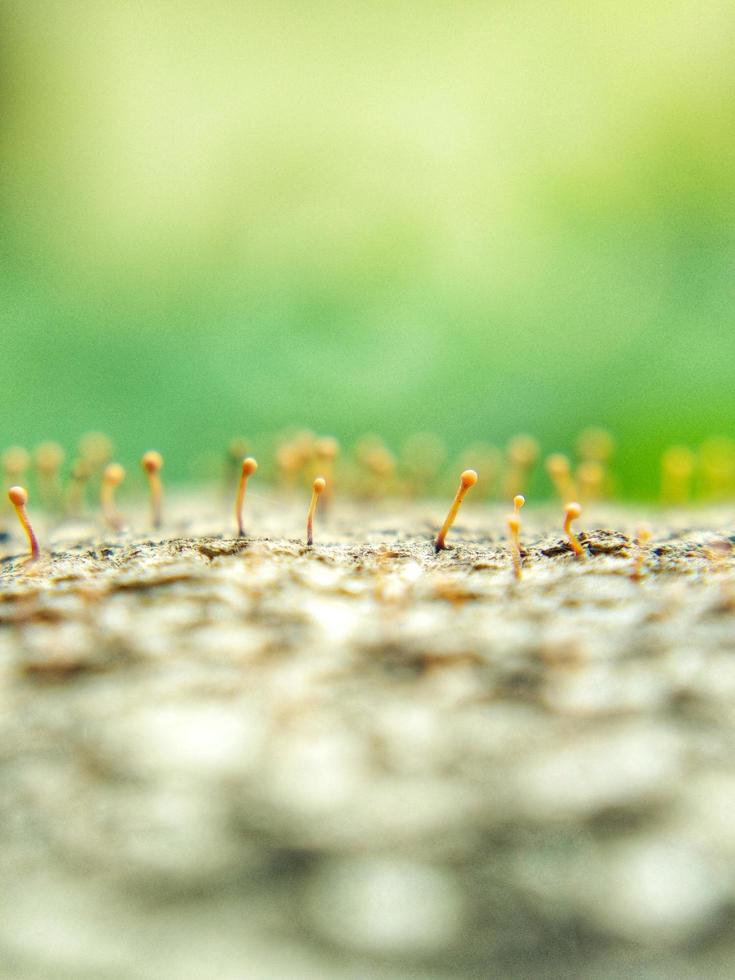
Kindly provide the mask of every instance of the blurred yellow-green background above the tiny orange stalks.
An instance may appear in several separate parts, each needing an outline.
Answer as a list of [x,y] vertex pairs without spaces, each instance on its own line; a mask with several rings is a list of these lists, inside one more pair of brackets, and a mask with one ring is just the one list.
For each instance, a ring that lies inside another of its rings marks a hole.
[[731,431],[729,0],[3,0],[0,445]]

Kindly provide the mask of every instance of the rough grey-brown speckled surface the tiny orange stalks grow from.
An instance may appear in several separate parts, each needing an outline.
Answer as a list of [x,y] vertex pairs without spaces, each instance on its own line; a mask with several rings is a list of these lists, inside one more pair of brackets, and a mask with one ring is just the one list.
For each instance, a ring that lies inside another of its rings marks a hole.
[[733,975],[729,515],[252,506],[4,545],[0,976]]

